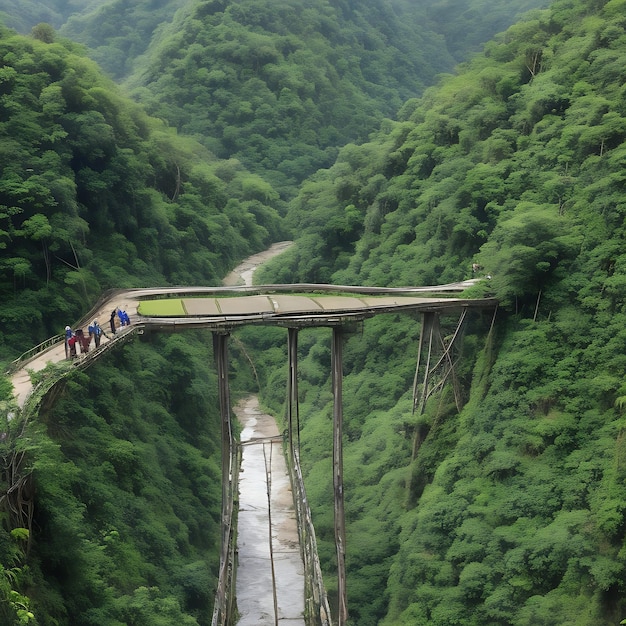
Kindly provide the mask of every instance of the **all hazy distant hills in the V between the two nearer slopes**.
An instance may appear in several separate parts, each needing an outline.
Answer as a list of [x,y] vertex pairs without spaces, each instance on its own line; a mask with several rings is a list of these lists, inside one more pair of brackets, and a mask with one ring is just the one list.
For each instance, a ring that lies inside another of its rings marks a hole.
[[544,5],[0,0],[0,11],[28,32],[39,7],[41,20],[86,45],[149,113],[241,161],[288,199],[339,146],[367,139],[438,74]]

